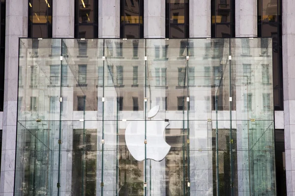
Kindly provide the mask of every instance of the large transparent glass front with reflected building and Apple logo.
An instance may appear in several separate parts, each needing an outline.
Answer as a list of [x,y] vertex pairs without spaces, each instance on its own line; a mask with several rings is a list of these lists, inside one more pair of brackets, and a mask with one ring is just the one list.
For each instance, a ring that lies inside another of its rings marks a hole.
[[271,38],[33,42],[16,196],[275,195]]

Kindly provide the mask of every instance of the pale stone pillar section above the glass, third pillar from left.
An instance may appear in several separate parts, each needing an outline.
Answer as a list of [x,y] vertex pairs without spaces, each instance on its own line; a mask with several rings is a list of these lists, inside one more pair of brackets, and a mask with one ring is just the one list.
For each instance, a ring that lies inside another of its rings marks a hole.
[[98,37],[120,37],[119,0],[98,0]]

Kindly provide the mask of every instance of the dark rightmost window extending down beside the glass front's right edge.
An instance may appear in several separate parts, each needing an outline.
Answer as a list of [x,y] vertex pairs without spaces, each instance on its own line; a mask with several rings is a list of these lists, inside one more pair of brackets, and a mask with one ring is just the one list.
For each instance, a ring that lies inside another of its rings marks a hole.
[[[273,103],[283,110],[282,0],[258,0],[258,37],[272,37]],[[268,40],[261,40],[261,55],[267,54]]]

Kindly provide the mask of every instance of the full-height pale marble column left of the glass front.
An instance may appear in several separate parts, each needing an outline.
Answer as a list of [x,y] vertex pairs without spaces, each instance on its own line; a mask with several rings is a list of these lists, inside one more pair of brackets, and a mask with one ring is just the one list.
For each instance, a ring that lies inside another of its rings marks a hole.
[[28,1],[6,1],[6,40],[0,196],[13,196],[19,37],[28,36]]

